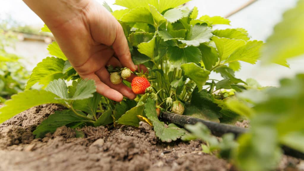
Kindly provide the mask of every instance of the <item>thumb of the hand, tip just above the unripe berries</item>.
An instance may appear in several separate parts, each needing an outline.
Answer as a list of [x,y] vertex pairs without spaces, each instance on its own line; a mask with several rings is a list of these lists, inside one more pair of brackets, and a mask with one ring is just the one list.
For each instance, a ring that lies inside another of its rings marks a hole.
[[116,28],[116,38],[112,45],[120,63],[127,68],[130,68],[131,71],[135,71],[135,65],[131,59],[131,53],[129,50],[128,42],[126,40],[123,28],[117,22]]

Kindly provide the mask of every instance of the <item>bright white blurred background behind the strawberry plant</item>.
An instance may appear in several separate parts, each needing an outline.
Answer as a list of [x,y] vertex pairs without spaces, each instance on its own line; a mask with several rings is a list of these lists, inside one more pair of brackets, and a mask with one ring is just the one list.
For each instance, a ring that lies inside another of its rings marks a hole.
[[[197,6],[199,16],[225,16],[239,6],[249,0],[193,0],[187,3],[189,8]],[[103,2],[103,0],[98,0]],[[113,10],[123,9],[123,7],[112,5],[115,0],[105,0]],[[272,33],[273,26],[280,21],[283,12],[293,7],[297,0],[258,0],[246,9],[231,16],[231,26],[216,26],[214,28],[224,29],[227,27],[237,28],[243,27],[248,30],[252,39],[265,41]],[[36,27],[43,26],[41,19],[36,16],[22,0],[0,0],[0,19],[7,15],[12,16],[19,23],[32,25]],[[248,77],[257,79],[262,85],[277,85],[277,81],[282,77],[291,77],[297,72],[304,72],[303,58],[289,61],[291,69],[278,65],[267,67],[242,63],[241,72],[237,72],[236,76],[241,79]],[[210,77],[218,77],[213,75]]]

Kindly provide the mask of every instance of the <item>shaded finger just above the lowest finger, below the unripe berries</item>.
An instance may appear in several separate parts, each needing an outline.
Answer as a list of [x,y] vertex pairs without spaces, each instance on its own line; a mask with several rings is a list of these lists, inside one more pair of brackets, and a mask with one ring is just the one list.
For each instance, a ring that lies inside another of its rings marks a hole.
[[110,74],[104,67],[95,73],[102,82],[104,82],[106,85],[109,85],[109,87],[111,87],[112,89],[117,90],[118,92],[123,94],[123,96],[126,96],[129,99],[136,98],[136,94],[133,93],[132,89],[130,89],[123,83],[120,83],[118,85],[112,84],[112,82],[110,81]]

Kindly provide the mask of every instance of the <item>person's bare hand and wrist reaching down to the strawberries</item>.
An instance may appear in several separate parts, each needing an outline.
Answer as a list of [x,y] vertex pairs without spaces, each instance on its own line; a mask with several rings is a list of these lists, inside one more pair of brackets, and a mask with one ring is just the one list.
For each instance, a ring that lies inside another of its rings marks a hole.
[[131,71],[137,66],[121,25],[102,5],[94,0],[23,1],[46,23],[81,78],[95,80],[98,93],[115,101],[136,97],[126,85],[110,82],[107,65]]

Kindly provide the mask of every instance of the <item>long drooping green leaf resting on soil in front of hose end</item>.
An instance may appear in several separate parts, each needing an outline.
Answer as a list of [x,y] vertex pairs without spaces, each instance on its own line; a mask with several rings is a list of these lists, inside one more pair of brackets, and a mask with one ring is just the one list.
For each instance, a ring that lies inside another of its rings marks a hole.
[[155,101],[148,98],[145,104],[146,116],[153,123],[155,135],[163,142],[175,141],[185,134],[185,130],[177,127],[175,124],[169,124],[168,128],[165,127],[164,122],[157,118]]

